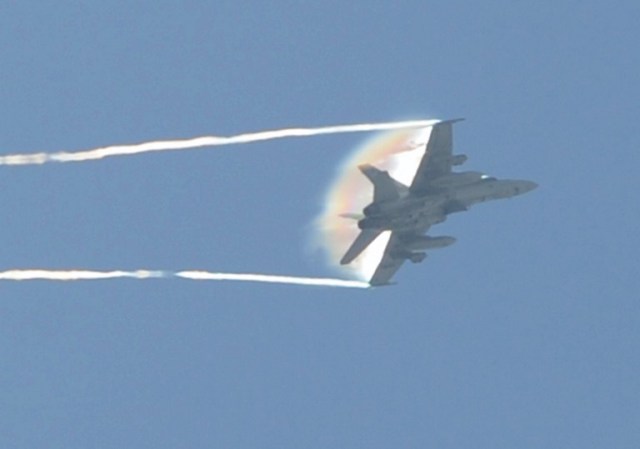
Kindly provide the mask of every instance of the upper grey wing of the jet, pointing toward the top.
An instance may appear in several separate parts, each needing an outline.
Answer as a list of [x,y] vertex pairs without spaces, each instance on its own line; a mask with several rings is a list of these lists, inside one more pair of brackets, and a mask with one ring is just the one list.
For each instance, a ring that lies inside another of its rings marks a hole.
[[411,193],[427,190],[429,181],[451,173],[453,157],[453,123],[449,120],[433,125],[420,166],[409,187]]

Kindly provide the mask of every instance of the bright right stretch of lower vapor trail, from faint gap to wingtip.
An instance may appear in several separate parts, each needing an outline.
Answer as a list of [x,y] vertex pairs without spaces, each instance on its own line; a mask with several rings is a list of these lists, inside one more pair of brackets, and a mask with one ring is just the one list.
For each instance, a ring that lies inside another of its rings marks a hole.
[[244,281],[277,284],[316,285],[325,287],[368,288],[366,282],[345,281],[330,278],[306,278],[298,276],[273,276],[249,273],[211,273],[208,271],[180,271],[175,276],[197,281]]

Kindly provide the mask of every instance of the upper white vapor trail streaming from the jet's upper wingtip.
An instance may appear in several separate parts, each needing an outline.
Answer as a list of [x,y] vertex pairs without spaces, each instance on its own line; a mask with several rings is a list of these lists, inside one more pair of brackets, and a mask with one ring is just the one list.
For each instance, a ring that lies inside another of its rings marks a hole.
[[113,145],[74,153],[32,153],[9,154],[0,156],[0,165],[39,165],[48,162],[83,162],[112,156],[150,153],[155,151],[174,151],[208,146],[251,143],[285,137],[307,137],[321,134],[354,133],[364,131],[385,131],[402,128],[423,128],[438,123],[439,120],[414,120],[390,123],[364,123],[356,125],[325,126],[320,128],[287,128],[271,131],[238,134],[236,136],[203,136],[184,140],[158,140],[133,145]]

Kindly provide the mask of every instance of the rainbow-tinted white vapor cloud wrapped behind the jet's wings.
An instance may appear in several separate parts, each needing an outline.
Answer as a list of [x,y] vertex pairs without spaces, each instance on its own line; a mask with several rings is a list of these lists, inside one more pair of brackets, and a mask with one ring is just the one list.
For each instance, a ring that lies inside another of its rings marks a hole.
[[357,148],[340,165],[324,200],[324,209],[314,222],[315,239],[325,250],[331,266],[349,276],[368,281],[382,259],[391,233],[383,232],[350,265],[339,265],[340,258],[358,235],[357,221],[343,214],[359,214],[371,202],[373,185],[358,170],[369,163],[409,186],[415,177],[431,127],[439,120],[426,122],[426,128],[400,129],[378,134]]

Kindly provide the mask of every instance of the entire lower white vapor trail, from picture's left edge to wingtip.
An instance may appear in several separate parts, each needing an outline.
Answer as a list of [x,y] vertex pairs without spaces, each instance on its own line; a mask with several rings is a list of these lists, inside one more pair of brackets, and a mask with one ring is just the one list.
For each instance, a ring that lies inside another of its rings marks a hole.
[[0,272],[0,280],[5,281],[95,281],[117,278],[158,279],[183,278],[197,281],[242,281],[266,282],[293,285],[315,285],[324,287],[368,288],[369,284],[359,281],[345,281],[331,278],[299,276],[275,276],[249,273],[214,273],[210,271],[89,271],[89,270],[8,270]]

